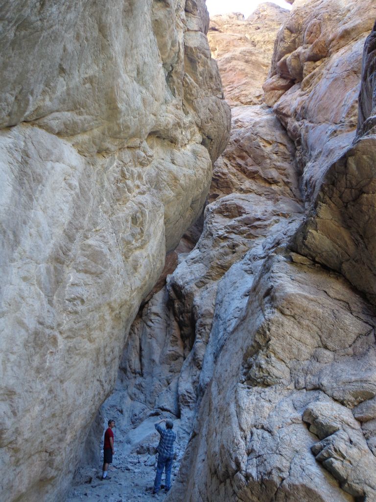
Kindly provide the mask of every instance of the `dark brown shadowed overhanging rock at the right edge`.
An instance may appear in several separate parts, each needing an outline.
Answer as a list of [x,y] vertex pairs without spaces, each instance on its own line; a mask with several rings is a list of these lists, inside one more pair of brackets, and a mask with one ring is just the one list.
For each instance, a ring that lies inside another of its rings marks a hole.
[[375,40],[373,28],[364,49],[357,134],[352,144],[327,167],[296,241],[302,253],[341,272],[373,304],[376,303]]

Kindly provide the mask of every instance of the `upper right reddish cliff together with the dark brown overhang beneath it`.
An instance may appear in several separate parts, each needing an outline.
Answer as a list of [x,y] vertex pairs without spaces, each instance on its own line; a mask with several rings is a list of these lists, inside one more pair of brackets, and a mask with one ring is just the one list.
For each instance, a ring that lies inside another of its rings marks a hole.
[[297,235],[296,248],[341,272],[374,303],[376,255],[369,225],[375,217],[374,135],[372,118],[368,119],[373,107],[372,39],[363,58],[356,136],[355,127],[360,54],[376,6],[373,2],[295,5],[276,41],[264,89],[295,140],[304,168],[309,218]]

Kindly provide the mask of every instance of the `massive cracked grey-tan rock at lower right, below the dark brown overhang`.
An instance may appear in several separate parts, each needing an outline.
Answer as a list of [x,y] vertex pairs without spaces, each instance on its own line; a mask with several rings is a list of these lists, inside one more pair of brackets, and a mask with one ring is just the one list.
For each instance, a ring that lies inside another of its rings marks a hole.
[[[374,456],[348,409],[376,391],[372,310],[313,264],[272,257],[257,270],[249,261],[219,286],[217,305],[236,292],[236,318],[214,314],[206,392],[170,499],[372,500]],[[322,432],[307,430],[311,408]]]

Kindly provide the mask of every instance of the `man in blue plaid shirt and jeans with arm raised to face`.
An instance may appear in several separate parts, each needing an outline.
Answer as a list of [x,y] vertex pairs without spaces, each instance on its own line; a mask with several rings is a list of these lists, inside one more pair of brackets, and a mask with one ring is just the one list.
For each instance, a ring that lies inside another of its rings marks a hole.
[[[162,422],[166,423],[166,428],[163,429],[160,425]],[[154,479],[153,494],[158,493],[160,490],[160,481],[162,479],[163,469],[165,469],[166,480],[164,482],[164,491],[168,491],[171,487],[171,468],[173,460],[173,442],[176,439],[176,434],[173,432],[173,422],[171,420],[160,420],[154,424],[155,429],[160,434],[158,444],[158,462],[157,472]]]

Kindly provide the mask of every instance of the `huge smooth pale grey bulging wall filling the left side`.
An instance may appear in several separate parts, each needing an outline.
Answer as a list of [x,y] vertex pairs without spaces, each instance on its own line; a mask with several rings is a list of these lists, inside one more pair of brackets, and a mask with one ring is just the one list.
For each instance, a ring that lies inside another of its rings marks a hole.
[[64,498],[139,304],[202,211],[230,110],[205,4],[184,5],[0,8],[2,499]]

